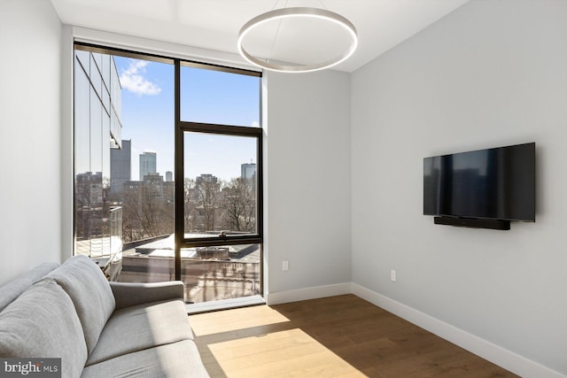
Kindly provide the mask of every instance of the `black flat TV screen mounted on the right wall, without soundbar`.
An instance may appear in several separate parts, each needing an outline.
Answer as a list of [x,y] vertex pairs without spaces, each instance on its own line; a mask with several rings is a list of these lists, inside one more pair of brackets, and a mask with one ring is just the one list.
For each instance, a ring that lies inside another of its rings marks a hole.
[[535,143],[424,158],[423,214],[535,221]]

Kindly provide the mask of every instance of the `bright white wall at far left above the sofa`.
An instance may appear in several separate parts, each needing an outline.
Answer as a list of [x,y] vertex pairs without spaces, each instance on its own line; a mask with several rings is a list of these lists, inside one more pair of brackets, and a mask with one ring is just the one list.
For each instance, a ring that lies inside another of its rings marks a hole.
[[60,261],[60,37],[49,1],[0,2],[0,284]]

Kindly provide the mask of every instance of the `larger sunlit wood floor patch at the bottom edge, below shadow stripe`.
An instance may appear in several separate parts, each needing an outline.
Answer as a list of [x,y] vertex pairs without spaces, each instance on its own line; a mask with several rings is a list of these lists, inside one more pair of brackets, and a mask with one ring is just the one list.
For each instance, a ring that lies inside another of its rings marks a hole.
[[365,376],[299,328],[208,347],[227,377]]

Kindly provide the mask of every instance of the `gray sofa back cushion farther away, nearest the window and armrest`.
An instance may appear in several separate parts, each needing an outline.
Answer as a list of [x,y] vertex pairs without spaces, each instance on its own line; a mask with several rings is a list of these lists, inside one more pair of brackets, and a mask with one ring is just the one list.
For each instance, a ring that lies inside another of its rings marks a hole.
[[114,311],[113,291],[105,274],[90,258],[77,255],[46,277],[55,280],[73,300],[90,354]]

